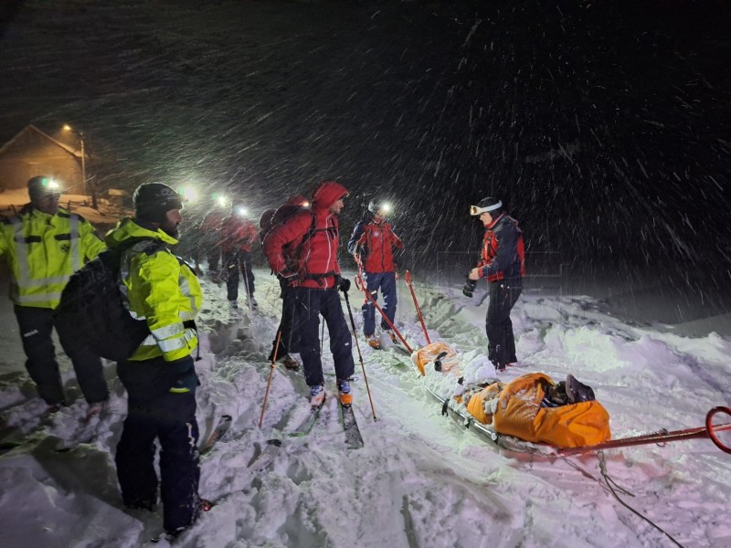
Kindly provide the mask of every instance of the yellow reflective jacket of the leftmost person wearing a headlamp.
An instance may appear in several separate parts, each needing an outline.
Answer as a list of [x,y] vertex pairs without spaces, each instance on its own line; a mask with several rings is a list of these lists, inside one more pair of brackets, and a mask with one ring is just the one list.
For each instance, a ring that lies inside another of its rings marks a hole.
[[0,255],[12,274],[10,299],[19,306],[55,309],[71,274],[104,248],[84,217],[64,207],[48,215],[25,205],[0,225]]

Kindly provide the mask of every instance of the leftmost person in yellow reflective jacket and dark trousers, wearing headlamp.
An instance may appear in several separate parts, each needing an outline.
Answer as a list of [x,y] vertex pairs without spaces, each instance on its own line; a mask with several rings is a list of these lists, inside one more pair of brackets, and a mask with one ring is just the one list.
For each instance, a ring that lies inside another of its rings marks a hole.
[[[66,405],[53,346],[53,310],[71,274],[105,248],[84,217],[58,205],[58,184],[46,176],[28,181],[30,203],[0,225],[0,255],[10,268],[10,298],[20,330],[26,369],[38,395],[57,411]],[[73,364],[90,414],[109,397],[99,356],[60,339]]]

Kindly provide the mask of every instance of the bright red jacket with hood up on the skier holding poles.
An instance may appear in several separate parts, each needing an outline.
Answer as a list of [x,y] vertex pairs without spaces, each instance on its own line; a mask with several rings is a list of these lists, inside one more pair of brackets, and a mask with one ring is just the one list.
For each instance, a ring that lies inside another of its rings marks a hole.
[[330,206],[346,194],[343,185],[325,181],[314,192],[312,210],[302,209],[271,229],[264,239],[264,255],[273,272],[285,278],[295,275],[292,285],[303,288],[336,285],[338,222]]

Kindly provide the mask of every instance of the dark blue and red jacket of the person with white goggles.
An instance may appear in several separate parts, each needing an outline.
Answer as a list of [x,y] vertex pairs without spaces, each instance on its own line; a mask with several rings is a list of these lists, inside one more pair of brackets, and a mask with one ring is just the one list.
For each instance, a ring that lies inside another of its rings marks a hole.
[[485,227],[477,267],[482,268],[482,278],[487,278],[488,283],[525,276],[523,232],[513,217],[503,213]]

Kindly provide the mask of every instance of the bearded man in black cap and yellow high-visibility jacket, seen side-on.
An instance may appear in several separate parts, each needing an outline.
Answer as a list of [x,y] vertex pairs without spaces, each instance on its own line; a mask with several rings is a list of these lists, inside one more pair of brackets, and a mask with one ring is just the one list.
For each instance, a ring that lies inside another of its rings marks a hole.
[[[196,274],[168,249],[177,244],[183,197],[162,183],[140,185],[135,216],[122,219],[106,236],[123,246],[120,288],[133,317],[145,319],[150,335],[117,374],[127,389],[128,413],[115,461],[122,501],[154,510],[158,438],[163,525],[169,535],[184,531],[198,514],[198,378],[192,353],[198,345],[194,318],[203,301]],[[130,247],[130,243],[134,243]]]

